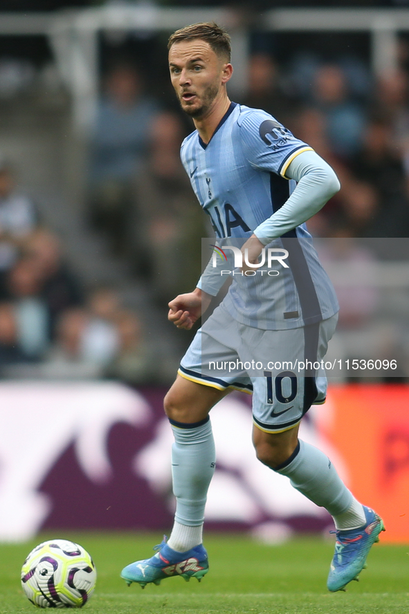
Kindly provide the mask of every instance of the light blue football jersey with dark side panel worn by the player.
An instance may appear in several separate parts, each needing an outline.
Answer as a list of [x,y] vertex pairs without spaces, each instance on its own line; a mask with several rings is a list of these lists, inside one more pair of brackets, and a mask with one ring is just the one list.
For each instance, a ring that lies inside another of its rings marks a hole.
[[[285,172],[300,152],[308,150],[311,147],[271,115],[236,103],[231,103],[207,145],[197,130],[183,141],[181,160],[201,207],[210,216],[217,245],[242,245],[282,207],[296,185]],[[235,269],[232,253],[217,269],[210,261],[199,288],[217,295],[226,281],[220,270],[230,267],[233,282],[224,306],[238,322],[266,330],[314,324],[338,311],[334,288],[305,224],[266,247],[288,252],[288,266],[278,263],[276,277],[270,277],[265,267],[254,277],[244,277]]]

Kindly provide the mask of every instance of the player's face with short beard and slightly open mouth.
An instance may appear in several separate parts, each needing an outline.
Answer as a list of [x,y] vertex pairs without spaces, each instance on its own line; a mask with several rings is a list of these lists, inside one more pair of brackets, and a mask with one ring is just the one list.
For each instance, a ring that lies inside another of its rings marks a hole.
[[185,113],[203,117],[221,93],[226,62],[201,39],[174,43],[169,51],[170,79]]

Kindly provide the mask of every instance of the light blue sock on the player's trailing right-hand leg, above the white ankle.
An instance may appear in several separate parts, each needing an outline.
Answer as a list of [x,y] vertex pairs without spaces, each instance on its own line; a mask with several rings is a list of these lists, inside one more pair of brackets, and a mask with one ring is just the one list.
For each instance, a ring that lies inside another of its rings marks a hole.
[[294,453],[275,471],[287,475],[291,485],[309,500],[325,507],[331,516],[347,511],[354,496],[340,479],[327,455],[305,441],[298,440]]

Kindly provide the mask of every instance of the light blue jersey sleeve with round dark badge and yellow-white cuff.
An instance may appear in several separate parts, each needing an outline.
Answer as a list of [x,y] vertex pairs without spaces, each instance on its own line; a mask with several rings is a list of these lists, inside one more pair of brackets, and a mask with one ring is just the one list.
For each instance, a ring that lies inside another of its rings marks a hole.
[[244,155],[257,170],[286,177],[291,161],[303,151],[312,151],[307,143],[296,139],[290,130],[263,111],[246,112],[238,124]]

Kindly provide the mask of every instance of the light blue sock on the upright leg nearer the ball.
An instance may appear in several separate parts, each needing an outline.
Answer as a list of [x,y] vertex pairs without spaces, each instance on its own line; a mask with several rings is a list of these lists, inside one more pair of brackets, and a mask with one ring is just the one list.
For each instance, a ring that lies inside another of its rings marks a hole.
[[216,452],[210,419],[190,424],[170,421],[174,432],[172,446],[173,493],[176,497],[176,523],[203,525],[208,487],[215,473]]

